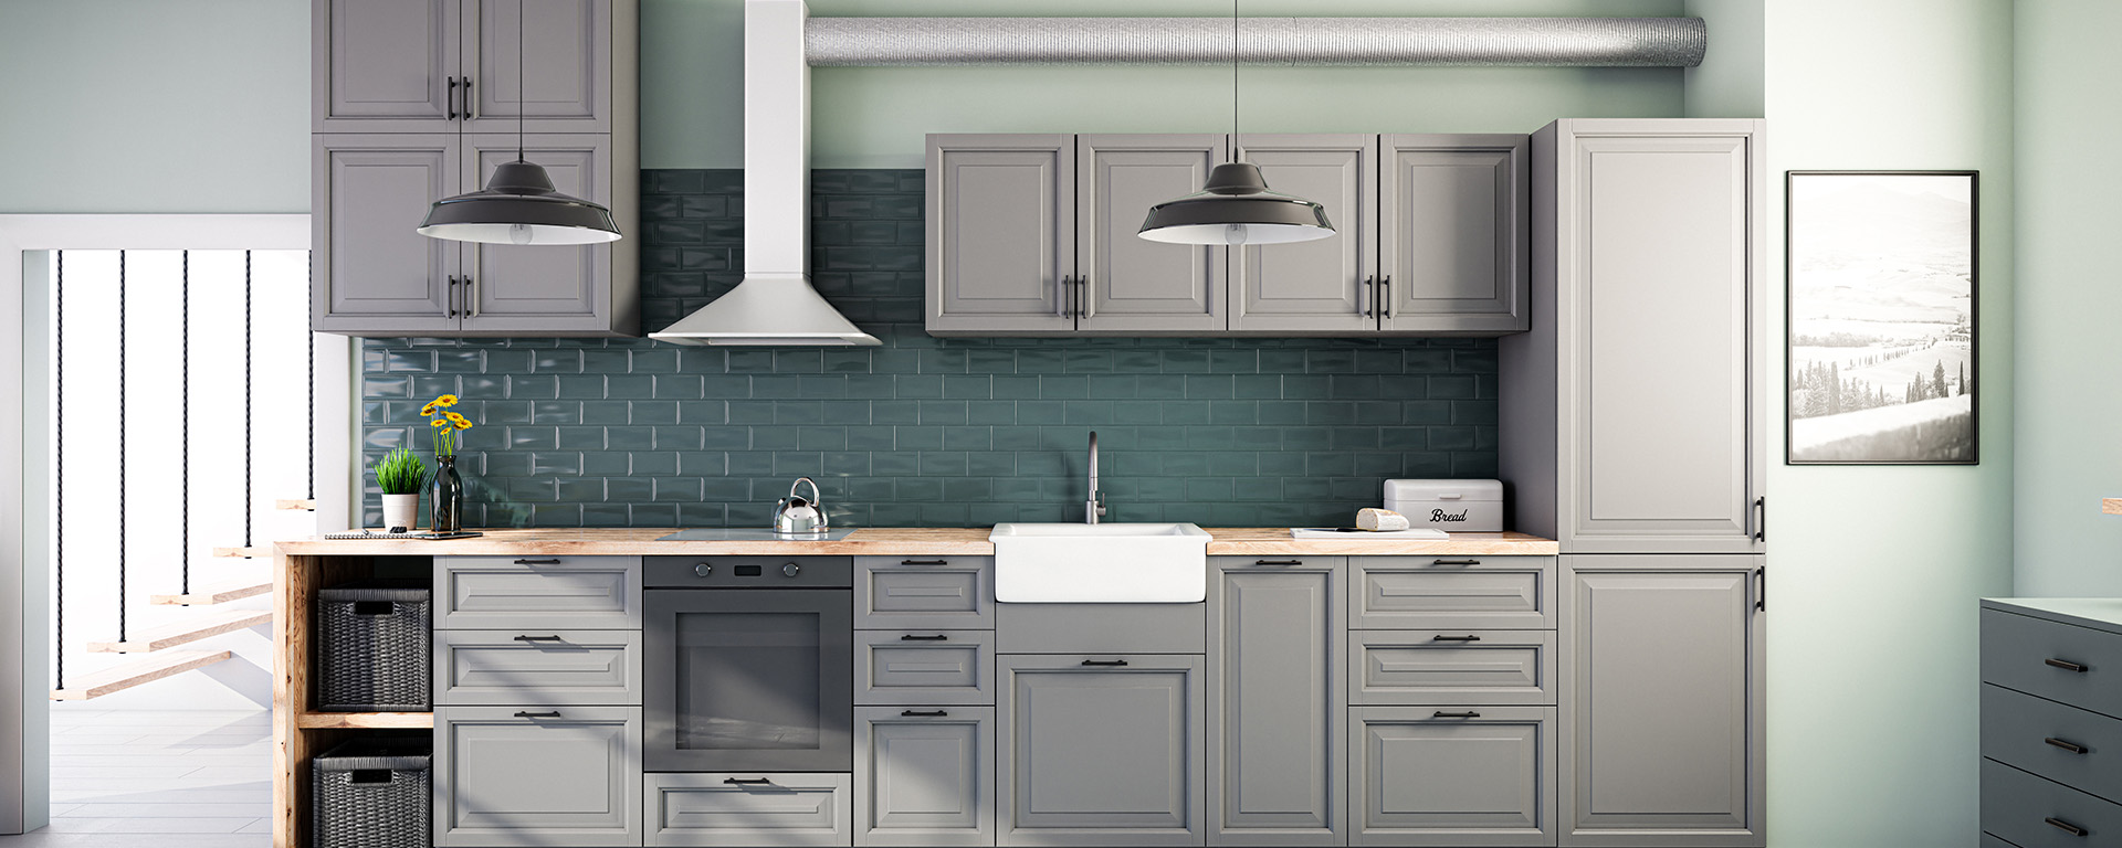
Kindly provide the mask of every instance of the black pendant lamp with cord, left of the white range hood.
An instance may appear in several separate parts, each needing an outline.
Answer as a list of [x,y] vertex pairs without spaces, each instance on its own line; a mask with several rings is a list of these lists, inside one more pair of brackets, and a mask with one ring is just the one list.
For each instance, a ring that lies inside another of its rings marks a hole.
[[618,242],[611,210],[554,191],[552,176],[524,159],[524,13],[516,2],[516,161],[501,163],[486,189],[437,199],[418,233],[486,244],[601,244]]

